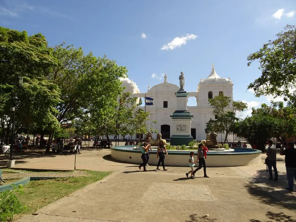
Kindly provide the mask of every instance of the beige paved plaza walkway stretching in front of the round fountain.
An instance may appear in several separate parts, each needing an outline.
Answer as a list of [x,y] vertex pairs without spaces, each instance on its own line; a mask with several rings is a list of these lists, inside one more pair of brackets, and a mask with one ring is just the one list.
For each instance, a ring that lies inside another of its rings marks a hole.
[[[71,169],[74,155],[20,161],[16,167]],[[149,172],[140,172],[137,165],[112,161],[108,149],[84,150],[77,156],[77,168],[114,172],[19,221],[296,222],[296,194],[284,189],[282,157],[279,182],[267,180],[263,163],[208,168],[210,178],[199,171],[195,180],[185,177],[189,167],[168,167],[165,172],[149,166]]]

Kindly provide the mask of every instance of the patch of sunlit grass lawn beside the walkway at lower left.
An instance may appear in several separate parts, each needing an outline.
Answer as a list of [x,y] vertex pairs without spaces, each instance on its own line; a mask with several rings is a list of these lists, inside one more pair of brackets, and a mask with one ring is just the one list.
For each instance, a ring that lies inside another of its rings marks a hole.
[[77,189],[102,180],[111,174],[111,172],[84,171],[87,172],[88,176],[31,181],[28,185],[25,185],[23,194],[17,194],[17,197],[22,204],[27,206],[27,209],[16,215],[14,219],[19,219],[25,214],[32,214]]

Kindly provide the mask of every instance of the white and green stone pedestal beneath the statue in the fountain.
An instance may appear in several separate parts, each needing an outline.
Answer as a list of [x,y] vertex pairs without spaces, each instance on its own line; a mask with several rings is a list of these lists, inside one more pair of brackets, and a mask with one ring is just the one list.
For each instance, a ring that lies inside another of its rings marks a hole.
[[193,115],[187,111],[188,93],[179,90],[175,95],[177,97],[177,110],[171,115],[173,124],[171,126],[172,136],[170,142],[172,146],[188,146],[188,143],[193,140],[191,136],[191,119]]

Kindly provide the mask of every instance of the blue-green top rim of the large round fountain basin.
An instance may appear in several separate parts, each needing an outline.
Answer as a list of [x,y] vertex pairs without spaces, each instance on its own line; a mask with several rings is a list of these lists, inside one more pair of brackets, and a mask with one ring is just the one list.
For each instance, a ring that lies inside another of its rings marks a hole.
[[[112,147],[111,150],[121,151],[121,152],[135,152],[135,153],[142,153],[141,150],[134,150],[134,149],[126,149],[126,148],[134,148],[135,146],[119,146],[119,147]],[[211,151],[207,152],[207,155],[252,155],[254,153],[261,153],[261,150],[258,149],[250,149],[250,148],[233,148],[234,150],[243,150],[240,152],[227,152],[227,150],[223,151]],[[191,151],[197,153],[197,150],[167,150],[170,155],[189,155]],[[152,153],[156,153],[156,150]]]

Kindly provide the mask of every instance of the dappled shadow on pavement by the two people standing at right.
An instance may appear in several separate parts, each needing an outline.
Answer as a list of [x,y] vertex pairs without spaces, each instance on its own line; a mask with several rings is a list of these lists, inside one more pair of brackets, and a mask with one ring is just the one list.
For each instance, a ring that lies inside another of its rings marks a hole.
[[296,195],[286,190],[286,175],[280,174],[279,181],[268,181],[269,174],[265,169],[257,171],[256,177],[245,185],[248,192],[254,198],[264,204],[284,206],[288,209],[296,209]]

